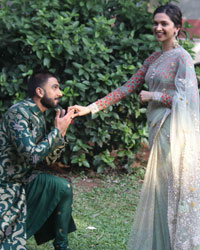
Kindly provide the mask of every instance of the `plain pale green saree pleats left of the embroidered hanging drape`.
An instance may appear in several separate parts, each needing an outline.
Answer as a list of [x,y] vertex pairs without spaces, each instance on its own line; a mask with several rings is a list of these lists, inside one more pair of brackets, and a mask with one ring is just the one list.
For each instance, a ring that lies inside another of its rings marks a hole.
[[168,117],[154,140],[127,249],[170,250],[167,224],[169,126]]

